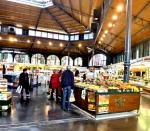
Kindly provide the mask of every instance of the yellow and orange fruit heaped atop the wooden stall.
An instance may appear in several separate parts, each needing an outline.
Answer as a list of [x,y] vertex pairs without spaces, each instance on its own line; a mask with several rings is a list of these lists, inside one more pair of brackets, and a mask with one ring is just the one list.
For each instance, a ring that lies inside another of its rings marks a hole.
[[139,88],[132,83],[125,83],[118,80],[95,81],[94,83],[78,82],[75,84],[79,88],[87,88],[95,92],[140,92]]

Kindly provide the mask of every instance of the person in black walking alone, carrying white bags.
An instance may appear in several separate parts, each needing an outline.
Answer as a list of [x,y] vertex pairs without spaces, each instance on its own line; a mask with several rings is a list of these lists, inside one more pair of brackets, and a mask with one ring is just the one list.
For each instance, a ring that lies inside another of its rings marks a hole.
[[23,89],[25,89],[26,97],[29,98],[29,77],[27,69],[23,69],[23,72],[19,76],[19,85],[22,86],[21,98],[23,98]]

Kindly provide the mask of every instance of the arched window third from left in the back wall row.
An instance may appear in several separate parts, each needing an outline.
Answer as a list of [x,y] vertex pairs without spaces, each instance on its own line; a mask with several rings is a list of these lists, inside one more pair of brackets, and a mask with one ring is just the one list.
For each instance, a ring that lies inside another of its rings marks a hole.
[[32,64],[45,64],[45,58],[41,54],[34,54],[31,58]]

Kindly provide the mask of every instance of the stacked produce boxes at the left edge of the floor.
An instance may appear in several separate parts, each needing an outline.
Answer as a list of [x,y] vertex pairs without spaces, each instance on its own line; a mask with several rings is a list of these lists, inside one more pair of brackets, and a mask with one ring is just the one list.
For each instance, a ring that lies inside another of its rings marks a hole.
[[7,79],[0,79],[0,111],[10,108],[12,101],[11,92],[7,92]]

